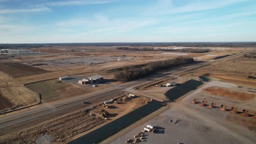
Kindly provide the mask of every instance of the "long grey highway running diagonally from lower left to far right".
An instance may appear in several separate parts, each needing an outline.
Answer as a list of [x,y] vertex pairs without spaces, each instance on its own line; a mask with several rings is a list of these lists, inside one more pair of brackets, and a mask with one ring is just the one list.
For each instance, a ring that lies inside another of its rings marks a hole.
[[[247,52],[249,52],[249,51],[247,51]],[[188,67],[175,68],[172,70],[164,71],[162,73],[168,72],[168,73],[171,73],[172,75],[180,75],[183,73],[188,73],[188,71],[194,71],[194,70],[200,69],[210,63],[234,58],[236,56],[243,55],[247,52],[238,53],[236,55],[232,55],[229,57],[217,59],[217,60],[202,63],[202,64],[197,64],[197,65],[191,64]],[[113,98],[113,95],[116,95],[116,94],[120,93],[121,91],[125,91],[126,89],[130,89],[130,88],[136,87],[138,85],[143,85],[144,83],[148,83],[150,81],[155,81],[159,78],[162,78],[163,76],[168,76],[168,75],[164,75],[164,74],[150,75],[148,77],[145,77],[144,79],[127,82],[122,85],[103,89],[102,91],[98,91],[98,92],[91,93],[91,94],[86,94],[81,97],[63,100],[59,103],[55,103],[52,105],[46,104],[37,109],[32,109],[32,110],[18,113],[16,115],[11,115],[8,117],[1,118],[0,119],[0,135],[5,135],[5,134],[11,133],[16,130],[30,127],[34,124],[38,124],[40,122],[56,118],[57,116],[64,115],[66,113],[78,110],[85,105],[88,105],[88,104],[82,104],[82,101],[87,101],[90,104],[90,103],[97,103],[99,101],[104,101],[106,99],[106,97],[108,99],[111,99],[111,98]]]

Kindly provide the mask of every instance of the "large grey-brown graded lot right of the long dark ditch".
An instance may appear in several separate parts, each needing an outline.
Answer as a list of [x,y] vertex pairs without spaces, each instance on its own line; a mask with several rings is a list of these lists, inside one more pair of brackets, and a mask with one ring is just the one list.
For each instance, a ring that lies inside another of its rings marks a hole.
[[[237,111],[246,109],[249,110],[249,113],[250,111],[254,113],[255,100],[219,97],[203,90],[213,86],[232,88],[233,85],[233,83],[217,81],[208,82],[181,101],[170,104],[170,109],[159,116],[143,122],[137,128],[126,131],[124,135],[116,137],[109,143],[119,144],[125,143],[127,139],[133,140],[133,136],[142,131],[147,124],[153,124],[157,130],[155,133],[144,133],[143,140],[145,142],[142,143],[255,143],[255,118],[243,117],[220,109],[210,109],[207,106],[200,106],[200,103],[190,103],[196,98],[200,101],[208,101],[207,105],[215,102],[217,106],[224,104],[228,106],[228,109],[235,106]],[[236,91],[239,91],[237,89]],[[245,91],[245,89],[241,91]],[[172,121],[178,119],[178,122],[170,123],[171,119]]]

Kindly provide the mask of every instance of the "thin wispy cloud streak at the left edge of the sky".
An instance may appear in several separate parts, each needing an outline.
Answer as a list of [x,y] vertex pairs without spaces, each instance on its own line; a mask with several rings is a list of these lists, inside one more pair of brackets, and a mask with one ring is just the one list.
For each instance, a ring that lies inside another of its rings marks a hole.
[[0,9],[0,14],[34,13],[40,11],[51,11],[51,9],[46,7],[32,9]]

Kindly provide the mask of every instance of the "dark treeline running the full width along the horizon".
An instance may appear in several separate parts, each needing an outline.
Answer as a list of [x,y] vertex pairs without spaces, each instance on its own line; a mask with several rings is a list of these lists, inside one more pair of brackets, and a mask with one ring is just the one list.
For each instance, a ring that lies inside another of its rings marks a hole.
[[184,47],[256,47],[256,42],[230,43],[51,43],[51,44],[0,44],[0,49],[17,49],[20,47],[37,48],[52,46],[184,46]]

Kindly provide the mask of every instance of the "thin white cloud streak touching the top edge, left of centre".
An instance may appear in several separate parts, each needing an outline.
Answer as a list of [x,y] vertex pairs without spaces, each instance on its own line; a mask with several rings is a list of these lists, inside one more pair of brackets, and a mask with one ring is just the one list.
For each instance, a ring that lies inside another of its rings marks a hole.
[[40,5],[48,6],[65,6],[65,5],[89,5],[89,4],[104,4],[113,3],[117,1],[60,1],[60,2],[47,2]]

